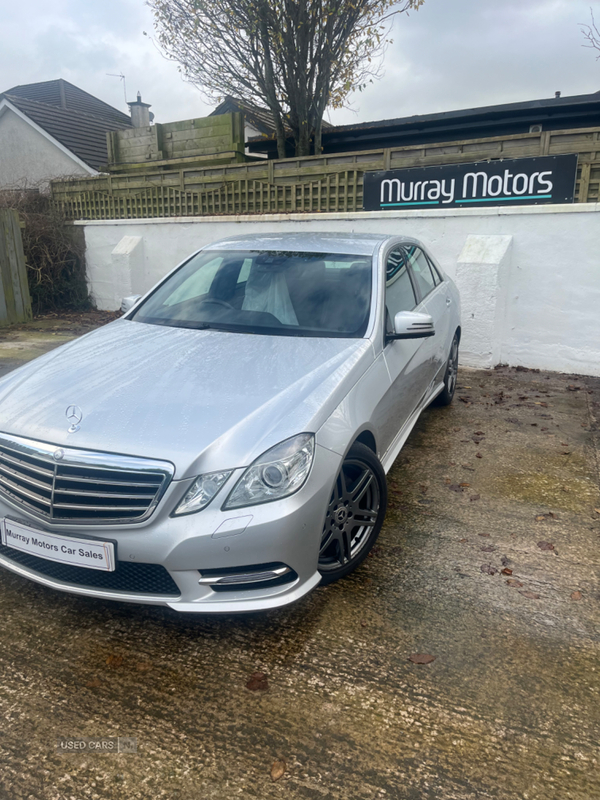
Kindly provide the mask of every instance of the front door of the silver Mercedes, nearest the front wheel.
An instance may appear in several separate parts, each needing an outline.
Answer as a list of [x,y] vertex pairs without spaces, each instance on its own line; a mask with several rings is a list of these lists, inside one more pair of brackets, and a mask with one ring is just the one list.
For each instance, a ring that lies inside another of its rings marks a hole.
[[[399,311],[420,311],[415,286],[407,269],[402,247],[385,256],[386,331],[391,332]],[[385,453],[404,423],[421,402],[431,380],[427,363],[428,339],[385,339],[383,357],[390,375],[390,386],[377,407],[377,426],[381,452]]]

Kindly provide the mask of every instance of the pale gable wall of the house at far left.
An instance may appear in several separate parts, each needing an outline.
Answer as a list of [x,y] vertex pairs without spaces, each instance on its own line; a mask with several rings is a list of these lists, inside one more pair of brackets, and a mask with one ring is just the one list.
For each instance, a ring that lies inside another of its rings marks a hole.
[[84,169],[12,109],[0,109],[0,189],[48,187],[53,178],[96,174]]

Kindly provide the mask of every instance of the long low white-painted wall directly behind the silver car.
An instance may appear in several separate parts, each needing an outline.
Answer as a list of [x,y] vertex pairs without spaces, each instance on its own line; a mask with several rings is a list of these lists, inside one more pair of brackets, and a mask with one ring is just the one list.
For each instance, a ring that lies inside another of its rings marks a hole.
[[461,363],[600,375],[600,204],[75,222],[101,309],[190,253],[248,233],[414,236],[461,290]]

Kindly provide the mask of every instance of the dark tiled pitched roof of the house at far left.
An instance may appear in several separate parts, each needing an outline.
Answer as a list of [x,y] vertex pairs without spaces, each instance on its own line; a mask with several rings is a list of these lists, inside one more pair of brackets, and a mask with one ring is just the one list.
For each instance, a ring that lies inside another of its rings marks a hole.
[[62,78],[14,86],[0,94],[93,169],[108,162],[106,133],[131,118]]

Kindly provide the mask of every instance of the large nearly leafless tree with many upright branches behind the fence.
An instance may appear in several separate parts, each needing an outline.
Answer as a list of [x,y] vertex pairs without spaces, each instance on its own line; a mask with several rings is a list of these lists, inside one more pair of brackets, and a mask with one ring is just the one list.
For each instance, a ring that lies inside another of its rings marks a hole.
[[424,0],[148,0],[157,40],[210,101],[266,105],[285,157],[321,151],[327,106],[379,75],[393,18]]

